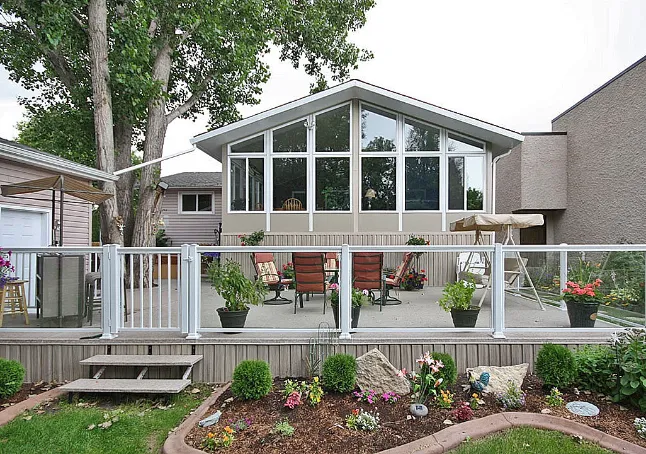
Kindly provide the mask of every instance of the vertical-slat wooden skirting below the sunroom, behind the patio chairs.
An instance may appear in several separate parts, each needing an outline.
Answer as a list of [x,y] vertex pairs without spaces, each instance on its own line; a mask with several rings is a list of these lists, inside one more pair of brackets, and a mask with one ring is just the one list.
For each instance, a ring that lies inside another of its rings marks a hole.
[[[414,232],[386,232],[386,233],[327,233],[327,232],[307,232],[307,233],[265,233],[265,239],[262,246],[341,246],[349,245],[378,245],[392,246],[403,245],[411,235],[421,236],[435,245],[464,245],[465,247],[473,245],[475,236],[471,233],[414,233]],[[491,235],[483,235],[485,243],[490,242]],[[237,235],[222,234],[222,246],[239,246],[240,239]],[[466,249],[465,251],[468,251]],[[275,253],[277,265],[291,261],[289,253]],[[426,270],[429,278],[428,285],[443,286],[446,282],[455,279],[455,260],[457,254],[450,252],[436,252],[422,254],[420,257],[419,268]],[[249,259],[249,254],[234,253],[222,254],[223,259],[233,259],[242,264],[242,269],[248,277],[254,275],[253,265]],[[384,265],[395,268],[401,263],[402,253],[393,252],[384,254]],[[415,266],[415,261],[413,261]]]

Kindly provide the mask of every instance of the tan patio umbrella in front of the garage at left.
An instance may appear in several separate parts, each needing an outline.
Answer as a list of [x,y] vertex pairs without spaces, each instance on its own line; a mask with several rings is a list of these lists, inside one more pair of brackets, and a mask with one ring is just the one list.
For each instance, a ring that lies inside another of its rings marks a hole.
[[[112,197],[107,192],[103,192],[87,183],[64,175],[23,181],[22,183],[3,184],[0,188],[2,189],[2,195],[6,197],[20,197],[21,194],[52,191],[52,238],[54,244],[58,246],[63,245],[63,202],[65,200],[65,194],[95,205],[103,203]],[[56,241],[56,192],[59,193],[58,242]]]

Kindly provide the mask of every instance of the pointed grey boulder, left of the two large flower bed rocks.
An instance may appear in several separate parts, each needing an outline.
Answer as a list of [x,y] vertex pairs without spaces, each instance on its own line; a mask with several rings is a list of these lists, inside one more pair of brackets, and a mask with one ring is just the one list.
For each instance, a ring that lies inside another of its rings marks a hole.
[[357,358],[357,385],[362,391],[372,389],[380,394],[388,391],[401,396],[408,394],[408,380],[398,377],[397,372],[395,366],[376,348]]

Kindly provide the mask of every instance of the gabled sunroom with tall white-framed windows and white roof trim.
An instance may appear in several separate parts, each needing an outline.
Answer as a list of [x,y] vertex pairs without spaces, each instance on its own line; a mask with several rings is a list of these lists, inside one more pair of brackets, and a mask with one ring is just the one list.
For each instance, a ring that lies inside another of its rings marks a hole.
[[351,80],[192,143],[222,163],[225,232],[327,235],[328,243],[311,244],[340,244],[371,232],[399,234],[394,242],[405,232],[448,232],[452,221],[490,212],[492,161],[522,140],[509,129]]

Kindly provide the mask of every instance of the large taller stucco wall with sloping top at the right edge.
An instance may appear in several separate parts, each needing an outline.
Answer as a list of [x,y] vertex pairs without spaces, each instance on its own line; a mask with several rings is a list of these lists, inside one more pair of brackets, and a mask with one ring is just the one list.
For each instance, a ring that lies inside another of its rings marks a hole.
[[567,131],[567,210],[555,242],[646,243],[646,61],[555,119]]

